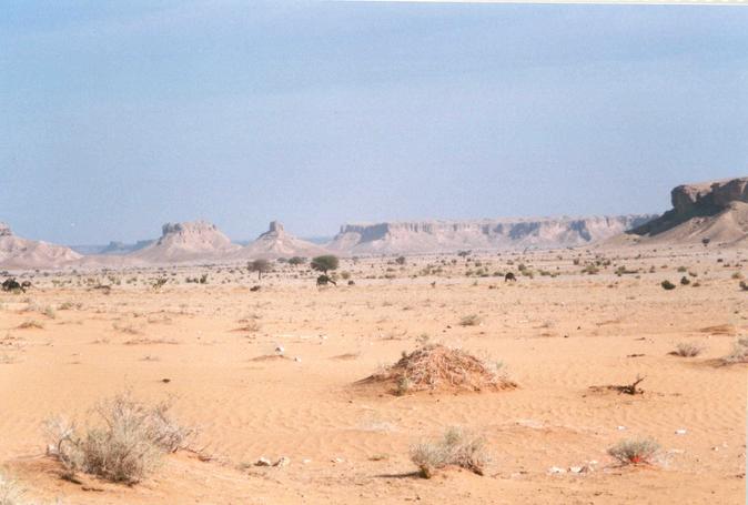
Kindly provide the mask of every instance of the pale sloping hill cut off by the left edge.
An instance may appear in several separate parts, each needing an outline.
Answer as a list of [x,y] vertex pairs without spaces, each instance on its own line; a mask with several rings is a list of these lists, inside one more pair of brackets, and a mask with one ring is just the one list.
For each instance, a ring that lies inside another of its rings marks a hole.
[[0,223],[0,267],[4,270],[57,269],[80,259],[70,248],[13,235]]

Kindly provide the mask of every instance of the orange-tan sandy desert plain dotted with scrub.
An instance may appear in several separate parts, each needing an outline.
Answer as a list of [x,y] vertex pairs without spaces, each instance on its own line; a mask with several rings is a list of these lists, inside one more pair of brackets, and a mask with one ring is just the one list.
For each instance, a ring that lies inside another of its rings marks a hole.
[[[639,253],[606,251],[597,274],[580,272],[593,255],[574,264],[576,251],[345,261],[355,285],[321,290],[290,266],[260,282],[225,266],[37,273],[29,293],[0,294],[0,466],[29,498],[64,504],[744,503],[748,365],[718,358],[748,335],[734,277],[748,263],[740,251]],[[533,279],[493,275],[520,262]],[[624,264],[639,273],[615,275]],[[678,283],[683,266],[691,285]],[[489,276],[466,275],[482,269]],[[203,273],[206,284],[184,282]],[[170,282],[155,291],[160,275]],[[462,326],[469,314],[481,324]],[[42,327],[19,327],[29,321]],[[355,385],[425,341],[501,360],[519,387],[394,396]],[[668,354],[679,342],[706,351]],[[286,358],[262,358],[277,345]],[[639,396],[589,388],[637,374]],[[61,479],[43,420],[85,420],[128,388],[170,398],[200,427],[195,452],[134,486]],[[408,447],[454,425],[486,437],[486,474],[420,478]],[[607,455],[638,435],[660,443],[655,465]],[[260,456],[291,464],[256,467]],[[568,472],[582,465],[593,471]]]

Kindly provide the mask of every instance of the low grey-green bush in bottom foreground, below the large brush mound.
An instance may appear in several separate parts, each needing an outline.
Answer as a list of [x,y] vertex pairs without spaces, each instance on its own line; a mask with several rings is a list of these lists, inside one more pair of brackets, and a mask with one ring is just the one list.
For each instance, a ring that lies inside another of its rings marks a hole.
[[411,461],[416,464],[422,477],[431,478],[435,471],[447,466],[459,466],[483,475],[488,456],[483,437],[451,427],[439,440],[411,447]]

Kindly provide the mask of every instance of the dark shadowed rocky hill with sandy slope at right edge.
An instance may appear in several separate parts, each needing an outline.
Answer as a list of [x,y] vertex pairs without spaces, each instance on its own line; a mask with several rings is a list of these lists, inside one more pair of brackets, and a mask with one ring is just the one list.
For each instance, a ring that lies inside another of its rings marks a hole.
[[627,235],[635,243],[748,242],[748,178],[683,184],[670,202],[671,210]]

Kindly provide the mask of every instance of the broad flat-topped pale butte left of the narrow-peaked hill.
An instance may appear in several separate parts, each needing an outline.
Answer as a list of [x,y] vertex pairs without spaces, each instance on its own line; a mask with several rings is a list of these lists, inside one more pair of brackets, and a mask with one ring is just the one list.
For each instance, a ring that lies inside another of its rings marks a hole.
[[164,224],[159,240],[129,256],[148,263],[212,261],[239,249],[215,224],[192,221]]

